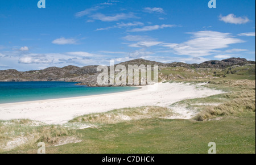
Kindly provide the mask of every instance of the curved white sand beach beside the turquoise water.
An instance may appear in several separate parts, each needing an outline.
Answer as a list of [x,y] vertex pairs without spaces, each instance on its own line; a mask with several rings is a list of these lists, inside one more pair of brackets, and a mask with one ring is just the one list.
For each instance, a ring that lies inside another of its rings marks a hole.
[[[138,90],[77,98],[0,104],[0,120],[30,119],[65,124],[76,116],[141,106],[168,107],[177,101],[223,93],[202,84],[158,83]],[[176,110],[179,113],[179,109]]]

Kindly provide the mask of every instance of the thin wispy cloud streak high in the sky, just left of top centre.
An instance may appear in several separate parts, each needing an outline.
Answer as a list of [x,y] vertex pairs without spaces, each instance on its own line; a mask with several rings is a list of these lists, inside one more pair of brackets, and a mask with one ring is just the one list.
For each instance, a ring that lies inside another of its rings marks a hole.
[[121,13],[121,14],[115,14],[112,16],[106,16],[104,14],[97,13],[94,15],[90,15],[90,17],[95,20],[101,20],[102,22],[113,22],[113,21],[130,19],[130,18],[138,18],[131,12],[129,14]]

